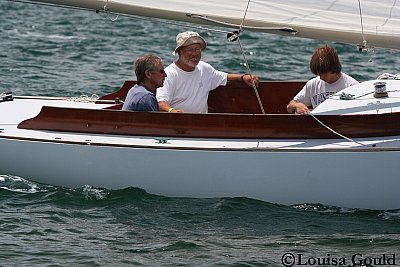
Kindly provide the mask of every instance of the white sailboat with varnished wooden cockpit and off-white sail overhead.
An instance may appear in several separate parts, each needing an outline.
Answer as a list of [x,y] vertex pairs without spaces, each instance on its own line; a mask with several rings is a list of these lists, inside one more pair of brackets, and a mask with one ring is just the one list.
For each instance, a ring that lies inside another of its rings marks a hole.
[[[400,48],[396,1],[30,2],[226,27],[239,42],[251,30]],[[0,173],[174,197],[400,208],[399,75],[345,88],[307,116],[286,112],[301,81],[264,81],[253,97],[230,82],[212,91],[207,114],[121,111],[134,84],[93,99],[0,94]]]

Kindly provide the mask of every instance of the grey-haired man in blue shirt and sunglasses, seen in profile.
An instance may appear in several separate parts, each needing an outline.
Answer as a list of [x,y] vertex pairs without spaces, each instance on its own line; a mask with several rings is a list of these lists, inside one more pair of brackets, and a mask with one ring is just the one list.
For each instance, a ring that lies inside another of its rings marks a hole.
[[162,87],[167,74],[162,59],[144,55],[135,61],[137,84],[128,92],[122,110],[159,111],[156,90]]

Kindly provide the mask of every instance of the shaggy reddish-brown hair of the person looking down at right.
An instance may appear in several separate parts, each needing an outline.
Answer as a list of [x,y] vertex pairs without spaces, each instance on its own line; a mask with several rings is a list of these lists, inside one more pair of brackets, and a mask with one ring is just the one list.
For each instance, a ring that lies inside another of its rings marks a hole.
[[327,72],[340,73],[342,65],[335,49],[329,45],[324,45],[317,48],[312,55],[310,69],[315,75]]

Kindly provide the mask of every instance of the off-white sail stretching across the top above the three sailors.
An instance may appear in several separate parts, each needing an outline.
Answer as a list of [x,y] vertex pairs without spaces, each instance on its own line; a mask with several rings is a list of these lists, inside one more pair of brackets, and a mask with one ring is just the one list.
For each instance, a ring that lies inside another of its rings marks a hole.
[[[244,30],[282,35],[295,32],[296,36],[304,38],[400,49],[399,0],[202,0],[200,2],[33,0],[33,2],[200,24],[230,25],[234,28],[238,28],[243,21]],[[271,31],[271,27],[279,27],[281,30]]]

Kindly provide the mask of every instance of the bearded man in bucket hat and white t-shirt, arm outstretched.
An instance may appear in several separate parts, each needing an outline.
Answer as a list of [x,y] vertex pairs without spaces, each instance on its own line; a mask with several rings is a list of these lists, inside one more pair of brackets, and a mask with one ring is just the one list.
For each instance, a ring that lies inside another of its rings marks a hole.
[[[176,44],[172,54],[178,55],[178,59],[165,69],[167,77],[164,86],[157,90],[160,111],[207,113],[208,93],[211,90],[234,80],[252,86],[248,74],[228,74],[201,61],[201,54],[207,43],[198,33],[179,33]],[[252,77],[258,86],[258,77]]]

